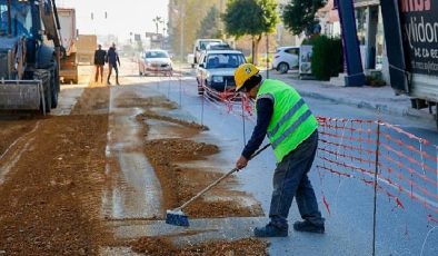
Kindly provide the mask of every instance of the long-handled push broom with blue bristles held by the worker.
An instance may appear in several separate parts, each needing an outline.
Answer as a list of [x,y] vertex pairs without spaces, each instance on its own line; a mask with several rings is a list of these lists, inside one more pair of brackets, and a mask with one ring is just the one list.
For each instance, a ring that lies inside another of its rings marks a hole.
[[[262,148],[260,148],[259,150],[257,150],[249,159],[255,158],[257,155],[259,155],[261,151],[263,151],[265,149],[267,149],[270,146],[270,144],[265,145]],[[220,181],[222,181],[222,179],[227,178],[228,176],[232,175],[233,173],[238,171],[238,168],[233,168],[232,170],[228,171],[227,174],[222,175],[222,177],[218,178],[217,180],[215,180],[212,184],[210,184],[208,187],[206,187],[205,189],[202,189],[200,193],[198,193],[196,196],[193,196],[192,198],[190,198],[188,201],[186,201],[183,205],[181,205],[178,208],[171,209],[171,210],[166,210],[166,223],[170,224],[170,225],[175,225],[175,226],[183,226],[183,227],[188,227],[189,226],[189,218],[187,217],[187,215],[185,215],[185,213],[182,213],[182,209],[186,208],[190,203],[192,203],[193,200],[196,200],[198,197],[202,196],[205,193],[207,193],[208,190],[210,190],[212,187],[215,187],[216,185],[218,185]]]

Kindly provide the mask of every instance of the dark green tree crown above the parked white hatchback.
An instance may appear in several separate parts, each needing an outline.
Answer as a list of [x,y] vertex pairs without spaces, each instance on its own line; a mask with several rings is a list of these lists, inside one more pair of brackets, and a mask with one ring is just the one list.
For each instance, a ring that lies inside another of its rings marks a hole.
[[310,35],[318,23],[315,13],[325,4],[326,0],[290,0],[282,7],[282,22],[296,35],[301,32]]

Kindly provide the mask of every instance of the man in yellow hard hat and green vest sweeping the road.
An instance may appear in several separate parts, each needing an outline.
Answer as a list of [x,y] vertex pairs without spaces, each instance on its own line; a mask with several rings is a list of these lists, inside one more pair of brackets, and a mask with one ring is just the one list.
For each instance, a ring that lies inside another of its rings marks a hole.
[[243,148],[236,168],[247,166],[250,156],[260,147],[265,136],[271,142],[277,159],[273,193],[269,209],[270,221],[255,228],[256,237],[288,236],[288,214],[293,196],[302,221],[296,221],[297,232],[325,233],[325,219],[308,173],[318,148],[318,121],[299,93],[289,85],[262,79],[251,63],[240,65],[235,72],[236,90],[256,100],[257,125]]

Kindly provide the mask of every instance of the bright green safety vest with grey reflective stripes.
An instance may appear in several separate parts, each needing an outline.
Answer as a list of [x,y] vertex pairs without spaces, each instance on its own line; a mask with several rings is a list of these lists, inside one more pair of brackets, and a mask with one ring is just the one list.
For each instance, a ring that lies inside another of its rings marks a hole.
[[257,93],[257,100],[261,98],[273,101],[268,138],[277,163],[280,163],[285,156],[309,138],[318,128],[318,120],[300,95],[282,81],[266,79]]

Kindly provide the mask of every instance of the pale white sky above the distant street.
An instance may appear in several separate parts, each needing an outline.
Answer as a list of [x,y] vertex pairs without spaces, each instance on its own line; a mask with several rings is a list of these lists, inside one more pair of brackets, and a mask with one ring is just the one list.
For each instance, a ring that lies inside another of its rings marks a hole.
[[[156,32],[157,16],[167,22],[168,0],[57,0],[58,7],[74,8],[79,33],[108,35],[129,39],[130,32]],[[107,11],[108,18],[104,19]],[[91,12],[93,20],[91,20]],[[159,26],[162,32],[162,24]]]

